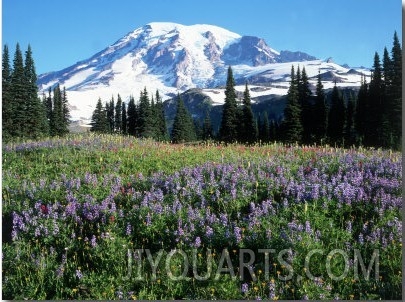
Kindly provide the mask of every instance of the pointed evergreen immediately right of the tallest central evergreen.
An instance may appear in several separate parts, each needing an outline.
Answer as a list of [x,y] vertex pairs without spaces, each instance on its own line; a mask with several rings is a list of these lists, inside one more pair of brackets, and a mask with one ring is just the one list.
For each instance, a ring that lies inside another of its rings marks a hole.
[[242,109],[242,128],[241,139],[243,143],[252,144],[256,141],[257,132],[256,132],[256,123],[254,121],[250,93],[247,83],[245,84],[245,91],[243,93],[243,109]]

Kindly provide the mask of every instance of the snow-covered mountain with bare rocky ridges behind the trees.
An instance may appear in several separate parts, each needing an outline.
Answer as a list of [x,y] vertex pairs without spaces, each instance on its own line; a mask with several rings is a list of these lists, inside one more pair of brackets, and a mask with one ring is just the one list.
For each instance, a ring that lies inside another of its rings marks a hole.
[[83,120],[90,118],[99,98],[105,102],[118,93],[124,100],[130,95],[136,98],[144,87],[151,93],[159,90],[163,99],[191,88],[208,89],[209,94],[225,84],[228,66],[237,83],[265,84],[264,91],[285,94],[291,65],[298,64],[305,66],[309,77],[328,73],[328,81],[339,85],[358,86],[358,72],[363,72],[350,72],[302,52],[278,52],[261,38],[218,26],[155,22],[87,60],[40,75],[38,85],[40,91],[57,83],[64,86],[72,118]]

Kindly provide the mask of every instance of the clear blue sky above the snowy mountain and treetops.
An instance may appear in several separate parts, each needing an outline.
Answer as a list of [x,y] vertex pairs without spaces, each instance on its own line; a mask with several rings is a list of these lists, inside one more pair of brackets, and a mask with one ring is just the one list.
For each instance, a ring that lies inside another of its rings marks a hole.
[[339,64],[371,67],[402,41],[400,0],[3,0],[2,45],[31,44],[38,74],[84,60],[150,22],[212,24]]

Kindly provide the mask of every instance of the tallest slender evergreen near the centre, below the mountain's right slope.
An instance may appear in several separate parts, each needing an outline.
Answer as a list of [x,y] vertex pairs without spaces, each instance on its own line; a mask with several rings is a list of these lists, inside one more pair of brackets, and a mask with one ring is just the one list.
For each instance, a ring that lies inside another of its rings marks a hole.
[[235,142],[238,138],[238,106],[236,102],[235,80],[232,68],[228,67],[228,75],[225,88],[225,103],[222,111],[220,138],[224,142]]

